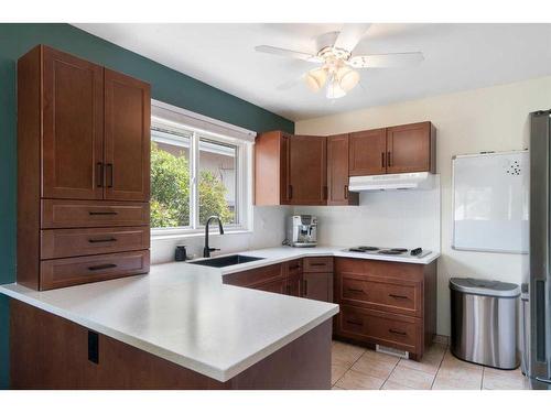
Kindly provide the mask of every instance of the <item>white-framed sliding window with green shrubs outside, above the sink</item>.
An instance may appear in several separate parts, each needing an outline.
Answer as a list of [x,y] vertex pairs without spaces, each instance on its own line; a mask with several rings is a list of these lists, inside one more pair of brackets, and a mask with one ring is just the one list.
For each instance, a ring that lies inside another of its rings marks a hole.
[[204,230],[209,216],[225,229],[249,229],[251,143],[153,117],[151,227],[154,237]]

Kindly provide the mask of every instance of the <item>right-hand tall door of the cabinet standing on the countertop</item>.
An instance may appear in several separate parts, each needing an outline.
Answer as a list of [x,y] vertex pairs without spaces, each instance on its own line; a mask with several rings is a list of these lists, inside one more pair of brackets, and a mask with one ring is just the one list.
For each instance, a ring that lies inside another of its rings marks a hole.
[[106,199],[149,200],[150,86],[105,69]]

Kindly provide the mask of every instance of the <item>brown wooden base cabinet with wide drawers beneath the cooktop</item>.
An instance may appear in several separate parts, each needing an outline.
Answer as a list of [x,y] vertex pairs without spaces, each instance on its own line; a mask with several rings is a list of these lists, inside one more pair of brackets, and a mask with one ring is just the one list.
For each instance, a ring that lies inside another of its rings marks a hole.
[[335,336],[422,358],[436,330],[436,262],[335,259]]

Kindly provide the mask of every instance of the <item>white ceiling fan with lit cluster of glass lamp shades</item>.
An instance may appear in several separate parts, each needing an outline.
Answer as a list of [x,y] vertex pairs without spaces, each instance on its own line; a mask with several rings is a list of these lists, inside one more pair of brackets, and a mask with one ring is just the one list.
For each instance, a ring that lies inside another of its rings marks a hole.
[[311,54],[288,48],[260,45],[255,50],[284,57],[320,64],[321,66],[306,72],[302,78],[313,90],[326,87],[325,96],[337,99],[345,96],[359,81],[356,69],[371,67],[402,67],[423,61],[421,52],[389,53],[375,55],[353,55],[353,51],[367,33],[370,24],[346,24],[341,32],[326,33],[321,36],[317,53]]

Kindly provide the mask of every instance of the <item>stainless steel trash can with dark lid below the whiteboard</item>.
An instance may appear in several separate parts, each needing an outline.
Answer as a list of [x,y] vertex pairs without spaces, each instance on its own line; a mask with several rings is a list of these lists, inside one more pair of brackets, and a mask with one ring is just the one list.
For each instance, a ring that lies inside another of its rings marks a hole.
[[500,281],[452,278],[450,291],[452,354],[478,365],[516,369],[520,287]]

